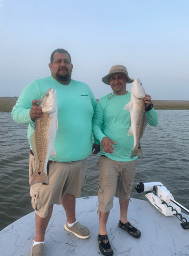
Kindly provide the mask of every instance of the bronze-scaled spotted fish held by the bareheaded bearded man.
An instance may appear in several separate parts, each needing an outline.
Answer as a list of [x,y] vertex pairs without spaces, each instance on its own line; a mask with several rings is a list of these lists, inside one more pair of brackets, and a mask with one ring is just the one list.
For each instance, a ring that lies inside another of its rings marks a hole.
[[54,142],[58,130],[57,91],[50,88],[39,102],[43,117],[35,120],[35,129],[30,140],[32,151],[37,163],[35,173],[31,177],[32,186],[35,183],[48,185],[47,163],[49,156],[56,156]]

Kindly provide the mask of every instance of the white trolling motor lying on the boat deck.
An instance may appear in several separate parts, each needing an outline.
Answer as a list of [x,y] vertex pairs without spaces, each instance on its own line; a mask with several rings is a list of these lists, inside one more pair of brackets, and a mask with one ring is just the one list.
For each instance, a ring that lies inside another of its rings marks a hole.
[[165,216],[176,216],[177,218],[179,216],[183,229],[189,229],[189,222],[182,218],[180,214],[181,209],[186,211],[187,214],[189,214],[189,210],[176,202],[170,191],[161,182],[140,182],[137,184],[136,190],[138,193],[146,191],[145,197],[147,197],[152,205]]

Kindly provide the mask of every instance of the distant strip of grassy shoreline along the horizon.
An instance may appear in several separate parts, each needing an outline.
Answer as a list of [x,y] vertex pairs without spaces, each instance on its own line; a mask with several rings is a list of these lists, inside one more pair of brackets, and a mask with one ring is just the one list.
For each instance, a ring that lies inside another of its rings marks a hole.
[[[0,112],[11,112],[17,99],[0,97]],[[152,100],[152,103],[155,110],[189,110],[189,100]]]

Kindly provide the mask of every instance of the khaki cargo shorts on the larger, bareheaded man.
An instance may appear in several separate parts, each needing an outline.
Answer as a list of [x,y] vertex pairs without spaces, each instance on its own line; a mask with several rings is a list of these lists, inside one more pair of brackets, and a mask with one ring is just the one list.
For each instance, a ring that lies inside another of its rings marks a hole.
[[[30,180],[36,169],[36,161],[30,153],[29,176]],[[52,204],[61,204],[65,194],[71,194],[75,198],[80,193],[86,181],[86,159],[73,162],[50,162],[48,179],[49,184],[36,183],[30,188],[32,207],[36,214],[45,218],[48,208]]]

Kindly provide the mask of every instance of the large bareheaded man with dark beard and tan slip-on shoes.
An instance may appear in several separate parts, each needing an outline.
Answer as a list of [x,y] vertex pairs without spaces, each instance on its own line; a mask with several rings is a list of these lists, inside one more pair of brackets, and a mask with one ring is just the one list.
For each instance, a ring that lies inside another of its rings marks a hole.
[[[64,228],[76,237],[87,239],[90,231],[75,218],[75,198],[85,185],[86,158],[99,146],[92,145],[92,117],[96,99],[87,84],[71,79],[73,65],[70,54],[57,49],[50,57],[50,77],[35,80],[24,88],[12,111],[13,120],[29,124],[28,138],[34,132],[35,119],[43,116],[37,104],[49,89],[57,90],[58,130],[55,139],[56,157],[49,157],[49,185],[31,186],[32,206],[36,211],[36,236],[31,256],[45,256],[45,230],[50,220],[53,204],[62,204],[67,217]],[[84,139],[85,138],[85,139]],[[94,138],[95,139],[95,138]],[[30,143],[31,145],[31,143]],[[36,161],[30,150],[29,175],[35,172]]]

